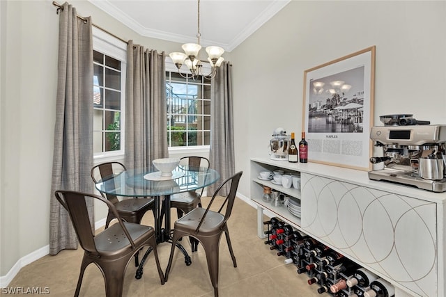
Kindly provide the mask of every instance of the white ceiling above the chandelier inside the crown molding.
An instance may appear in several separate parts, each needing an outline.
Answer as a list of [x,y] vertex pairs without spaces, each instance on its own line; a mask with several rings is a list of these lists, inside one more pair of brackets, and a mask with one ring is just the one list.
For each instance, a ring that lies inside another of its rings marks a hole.
[[[197,42],[197,0],[89,0],[140,35]],[[291,0],[201,0],[201,45],[231,51]]]

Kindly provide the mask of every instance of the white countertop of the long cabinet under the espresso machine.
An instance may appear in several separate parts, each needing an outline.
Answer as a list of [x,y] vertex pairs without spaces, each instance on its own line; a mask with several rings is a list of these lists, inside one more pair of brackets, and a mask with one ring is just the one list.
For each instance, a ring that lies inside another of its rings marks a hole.
[[390,193],[397,193],[406,195],[417,199],[422,199],[430,202],[443,204],[446,202],[446,192],[436,193],[426,191],[413,186],[405,186],[393,184],[391,182],[375,181],[369,179],[367,171],[355,170],[350,168],[342,168],[337,166],[330,166],[320,163],[289,163],[288,161],[275,161],[268,157],[252,158],[251,161],[266,163],[271,166],[286,168],[299,172],[305,172],[312,175],[327,177],[330,179],[337,179],[341,182],[348,182],[360,186],[367,186],[369,188],[376,188],[377,190],[387,191]]

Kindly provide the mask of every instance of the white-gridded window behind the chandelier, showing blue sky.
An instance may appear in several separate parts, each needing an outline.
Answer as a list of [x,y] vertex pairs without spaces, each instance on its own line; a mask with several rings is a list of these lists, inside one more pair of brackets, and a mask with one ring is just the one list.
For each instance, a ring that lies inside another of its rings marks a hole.
[[[166,67],[168,69],[168,67]],[[210,144],[210,81],[166,72],[167,143],[169,147]]]

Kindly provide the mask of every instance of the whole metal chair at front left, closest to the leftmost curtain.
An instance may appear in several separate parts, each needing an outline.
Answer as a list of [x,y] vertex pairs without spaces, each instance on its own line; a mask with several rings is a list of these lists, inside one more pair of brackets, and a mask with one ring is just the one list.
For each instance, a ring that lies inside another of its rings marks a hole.
[[[153,250],[161,284],[164,284],[153,227],[123,221],[114,204],[98,195],[76,191],[56,191],[54,195],[68,211],[77,239],[84,249],[75,296],[79,296],[85,268],[91,263],[96,264],[102,272],[106,296],[122,296],[125,269],[130,259],[145,246],[149,246],[146,253]],[[118,223],[99,234],[93,234],[86,199],[97,199],[107,204]]]

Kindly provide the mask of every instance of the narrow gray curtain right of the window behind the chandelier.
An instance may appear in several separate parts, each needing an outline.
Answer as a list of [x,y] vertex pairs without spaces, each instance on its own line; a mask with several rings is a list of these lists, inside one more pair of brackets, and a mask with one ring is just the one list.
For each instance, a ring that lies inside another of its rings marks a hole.
[[[210,168],[220,172],[220,181],[235,173],[231,67],[228,62],[222,63],[210,87],[212,128],[209,161]],[[210,185],[208,195],[212,195],[219,185]],[[220,193],[229,194],[229,185]]]

